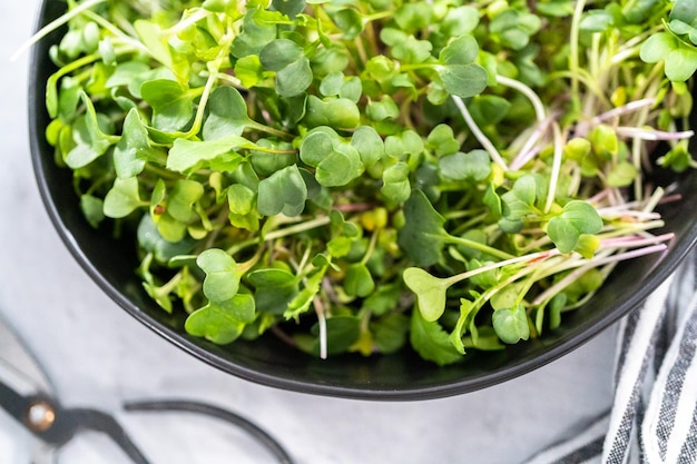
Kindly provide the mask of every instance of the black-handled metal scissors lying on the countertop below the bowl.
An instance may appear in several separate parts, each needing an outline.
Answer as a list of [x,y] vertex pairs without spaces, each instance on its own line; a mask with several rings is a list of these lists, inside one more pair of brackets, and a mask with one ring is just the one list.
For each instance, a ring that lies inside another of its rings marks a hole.
[[[32,464],[56,463],[58,452],[78,433],[108,436],[134,464],[150,464],[131,437],[108,413],[90,407],[63,407],[38,361],[18,334],[0,318],[0,409],[4,409],[36,438]],[[181,399],[127,402],[129,412],[195,413],[224,421],[247,432],[281,464],[293,464],[284,448],[265,431],[230,411]]]

